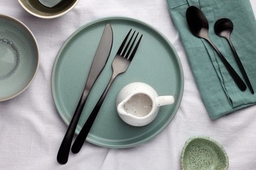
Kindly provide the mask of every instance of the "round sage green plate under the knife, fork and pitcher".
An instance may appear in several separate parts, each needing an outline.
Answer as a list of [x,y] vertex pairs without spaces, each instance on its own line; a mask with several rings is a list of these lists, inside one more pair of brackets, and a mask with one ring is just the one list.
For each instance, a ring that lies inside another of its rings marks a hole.
[[[76,133],[87,120],[112,75],[111,63],[129,29],[143,34],[135,58],[127,71],[112,84],[87,141],[108,148],[126,148],[149,141],[162,131],[179,109],[183,93],[181,62],[171,43],[156,29],[130,18],[104,18],[77,29],[63,44],[53,67],[52,88],[56,108],[66,124],[74,114],[105,25],[112,25],[114,41],[110,58],[89,93]],[[175,104],[161,107],[157,118],[147,126],[129,126],[119,118],[116,97],[131,82],[144,82],[159,95],[174,95]]]

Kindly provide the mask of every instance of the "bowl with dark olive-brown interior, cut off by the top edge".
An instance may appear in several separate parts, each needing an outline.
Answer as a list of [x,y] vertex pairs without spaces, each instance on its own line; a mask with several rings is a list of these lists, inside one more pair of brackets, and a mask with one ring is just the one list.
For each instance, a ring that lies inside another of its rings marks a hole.
[[[44,4],[51,3],[49,0],[40,0]],[[52,0],[54,1],[54,0]],[[18,0],[20,5],[25,9],[27,12],[32,14],[33,16],[37,16],[39,18],[56,18],[62,16],[72,10],[75,5],[77,5],[79,0],[64,0],[65,3],[62,3],[60,7],[49,8],[39,3],[38,0]]]

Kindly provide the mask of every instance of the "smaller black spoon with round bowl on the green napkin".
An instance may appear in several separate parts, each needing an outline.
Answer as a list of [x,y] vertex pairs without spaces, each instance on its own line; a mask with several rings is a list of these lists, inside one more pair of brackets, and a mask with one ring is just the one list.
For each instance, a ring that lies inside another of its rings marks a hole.
[[232,52],[234,54],[234,58],[236,59],[236,63],[238,63],[238,67],[240,68],[240,71],[244,76],[245,82],[249,87],[249,90],[251,91],[251,93],[254,93],[253,87],[251,86],[251,82],[249,81],[249,78],[245,72],[244,66],[240,58],[238,57],[238,54],[236,53],[236,50],[230,40],[230,34],[233,31],[233,27],[234,25],[230,19],[222,18],[220,20],[217,20],[217,22],[215,22],[214,31],[217,35],[219,35],[219,37],[224,37],[228,41],[228,44],[230,45]]

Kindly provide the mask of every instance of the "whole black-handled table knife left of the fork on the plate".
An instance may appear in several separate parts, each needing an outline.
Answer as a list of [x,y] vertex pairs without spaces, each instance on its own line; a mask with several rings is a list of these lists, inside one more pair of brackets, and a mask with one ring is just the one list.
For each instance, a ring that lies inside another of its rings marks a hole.
[[64,139],[60,144],[60,148],[57,154],[57,161],[60,164],[65,164],[68,162],[68,155],[70,153],[70,148],[72,144],[72,139],[74,137],[75,128],[77,126],[78,120],[81,116],[81,112],[83,111],[83,107],[85,105],[85,101],[87,100],[87,96],[93,87],[98,75],[100,75],[102,69],[106,65],[108,57],[110,56],[111,48],[113,44],[113,31],[110,24],[106,24],[104,31],[102,33],[102,37],[100,39],[100,43],[98,44],[98,48],[96,50],[95,58],[93,59],[93,63],[91,65],[91,69],[89,71],[89,76],[87,78],[87,82],[85,84],[85,88],[77,104],[72,120],[70,121],[70,125],[66,131]]

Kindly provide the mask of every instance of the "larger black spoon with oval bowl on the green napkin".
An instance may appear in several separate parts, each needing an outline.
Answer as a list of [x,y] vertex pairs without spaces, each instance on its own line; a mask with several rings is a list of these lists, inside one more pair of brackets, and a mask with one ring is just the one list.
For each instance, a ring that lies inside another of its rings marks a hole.
[[236,73],[236,71],[233,69],[233,67],[226,61],[223,54],[217,49],[217,47],[211,42],[211,40],[208,37],[208,30],[209,25],[207,22],[207,19],[205,18],[205,15],[203,12],[198,9],[197,7],[191,6],[188,7],[186,10],[186,21],[188,22],[188,26],[190,27],[190,31],[192,34],[196,37],[205,39],[213,49],[217,52],[219,57],[221,58],[221,61],[223,62],[224,66],[226,67],[228,73],[230,76],[232,76],[234,82],[240,88],[240,90],[245,91],[246,86],[243,82],[243,80],[240,78],[240,76]]

